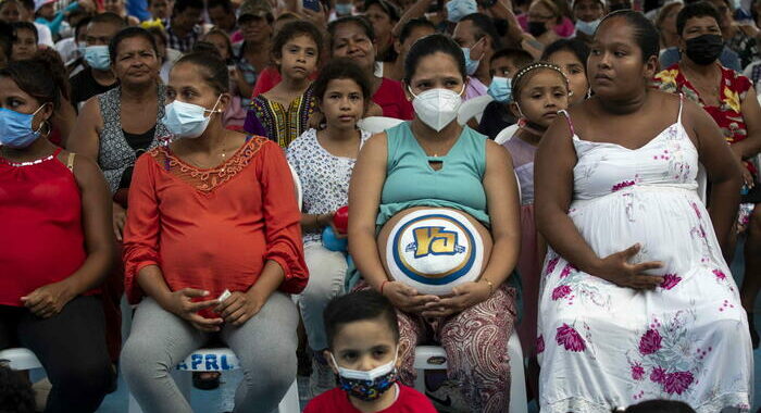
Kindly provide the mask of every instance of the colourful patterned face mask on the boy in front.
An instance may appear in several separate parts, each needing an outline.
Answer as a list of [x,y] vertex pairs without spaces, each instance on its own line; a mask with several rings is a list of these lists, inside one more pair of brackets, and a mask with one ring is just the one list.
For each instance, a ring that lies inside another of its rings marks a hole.
[[339,366],[333,353],[330,353],[330,360],[338,370],[340,389],[363,401],[376,400],[390,389],[398,378],[397,355],[390,362],[366,372]]

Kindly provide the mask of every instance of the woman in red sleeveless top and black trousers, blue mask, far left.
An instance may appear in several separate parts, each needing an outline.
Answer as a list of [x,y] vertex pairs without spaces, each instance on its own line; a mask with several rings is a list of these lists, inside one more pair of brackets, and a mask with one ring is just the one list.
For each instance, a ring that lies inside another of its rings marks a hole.
[[39,57],[0,71],[0,349],[40,360],[47,412],[95,412],[115,380],[101,304],[111,209],[98,165],[48,140],[66,87]]

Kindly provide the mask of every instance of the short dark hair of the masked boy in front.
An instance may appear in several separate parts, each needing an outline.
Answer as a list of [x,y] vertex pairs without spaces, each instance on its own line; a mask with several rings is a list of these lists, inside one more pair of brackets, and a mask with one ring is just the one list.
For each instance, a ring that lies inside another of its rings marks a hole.
[[327,347],[333,342],[340,328],[349,323],[380,318],[391,330],[394,341],[399,341],[397,312],[386,297],[374,290],[349,292],[330,300],[323,311]]

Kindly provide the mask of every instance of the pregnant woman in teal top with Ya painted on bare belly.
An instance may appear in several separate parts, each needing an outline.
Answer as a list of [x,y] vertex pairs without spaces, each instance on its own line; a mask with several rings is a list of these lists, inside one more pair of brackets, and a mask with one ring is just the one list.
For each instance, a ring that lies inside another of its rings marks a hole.
[[[349,189],[349,251],[397,308],[399,378],[414,348],[440,343],[448,377],[474,412],[507,412],[519,196],[507,151],[456,122],[465,84],[451,39],[420,39],[404,63],[415,118],[373,136]],[[495,253],[492,253],[492,251]]]

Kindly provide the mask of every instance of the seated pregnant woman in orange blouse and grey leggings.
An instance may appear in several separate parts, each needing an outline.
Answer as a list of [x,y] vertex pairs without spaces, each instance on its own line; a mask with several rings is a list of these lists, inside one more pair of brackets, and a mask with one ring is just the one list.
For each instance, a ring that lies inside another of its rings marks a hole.
[[[276,142],[228,130],[227,66],[214,54],[172,68],[163,122],[174,140],[135,165],[124,230],[137,304],[121,366],[145,411],[191,413],[171,370],[210,340],[240,361],[236,412],[270,412],[296,379],[307,285],[301,213]],[[160,372],[157,374],[157,372]]]

